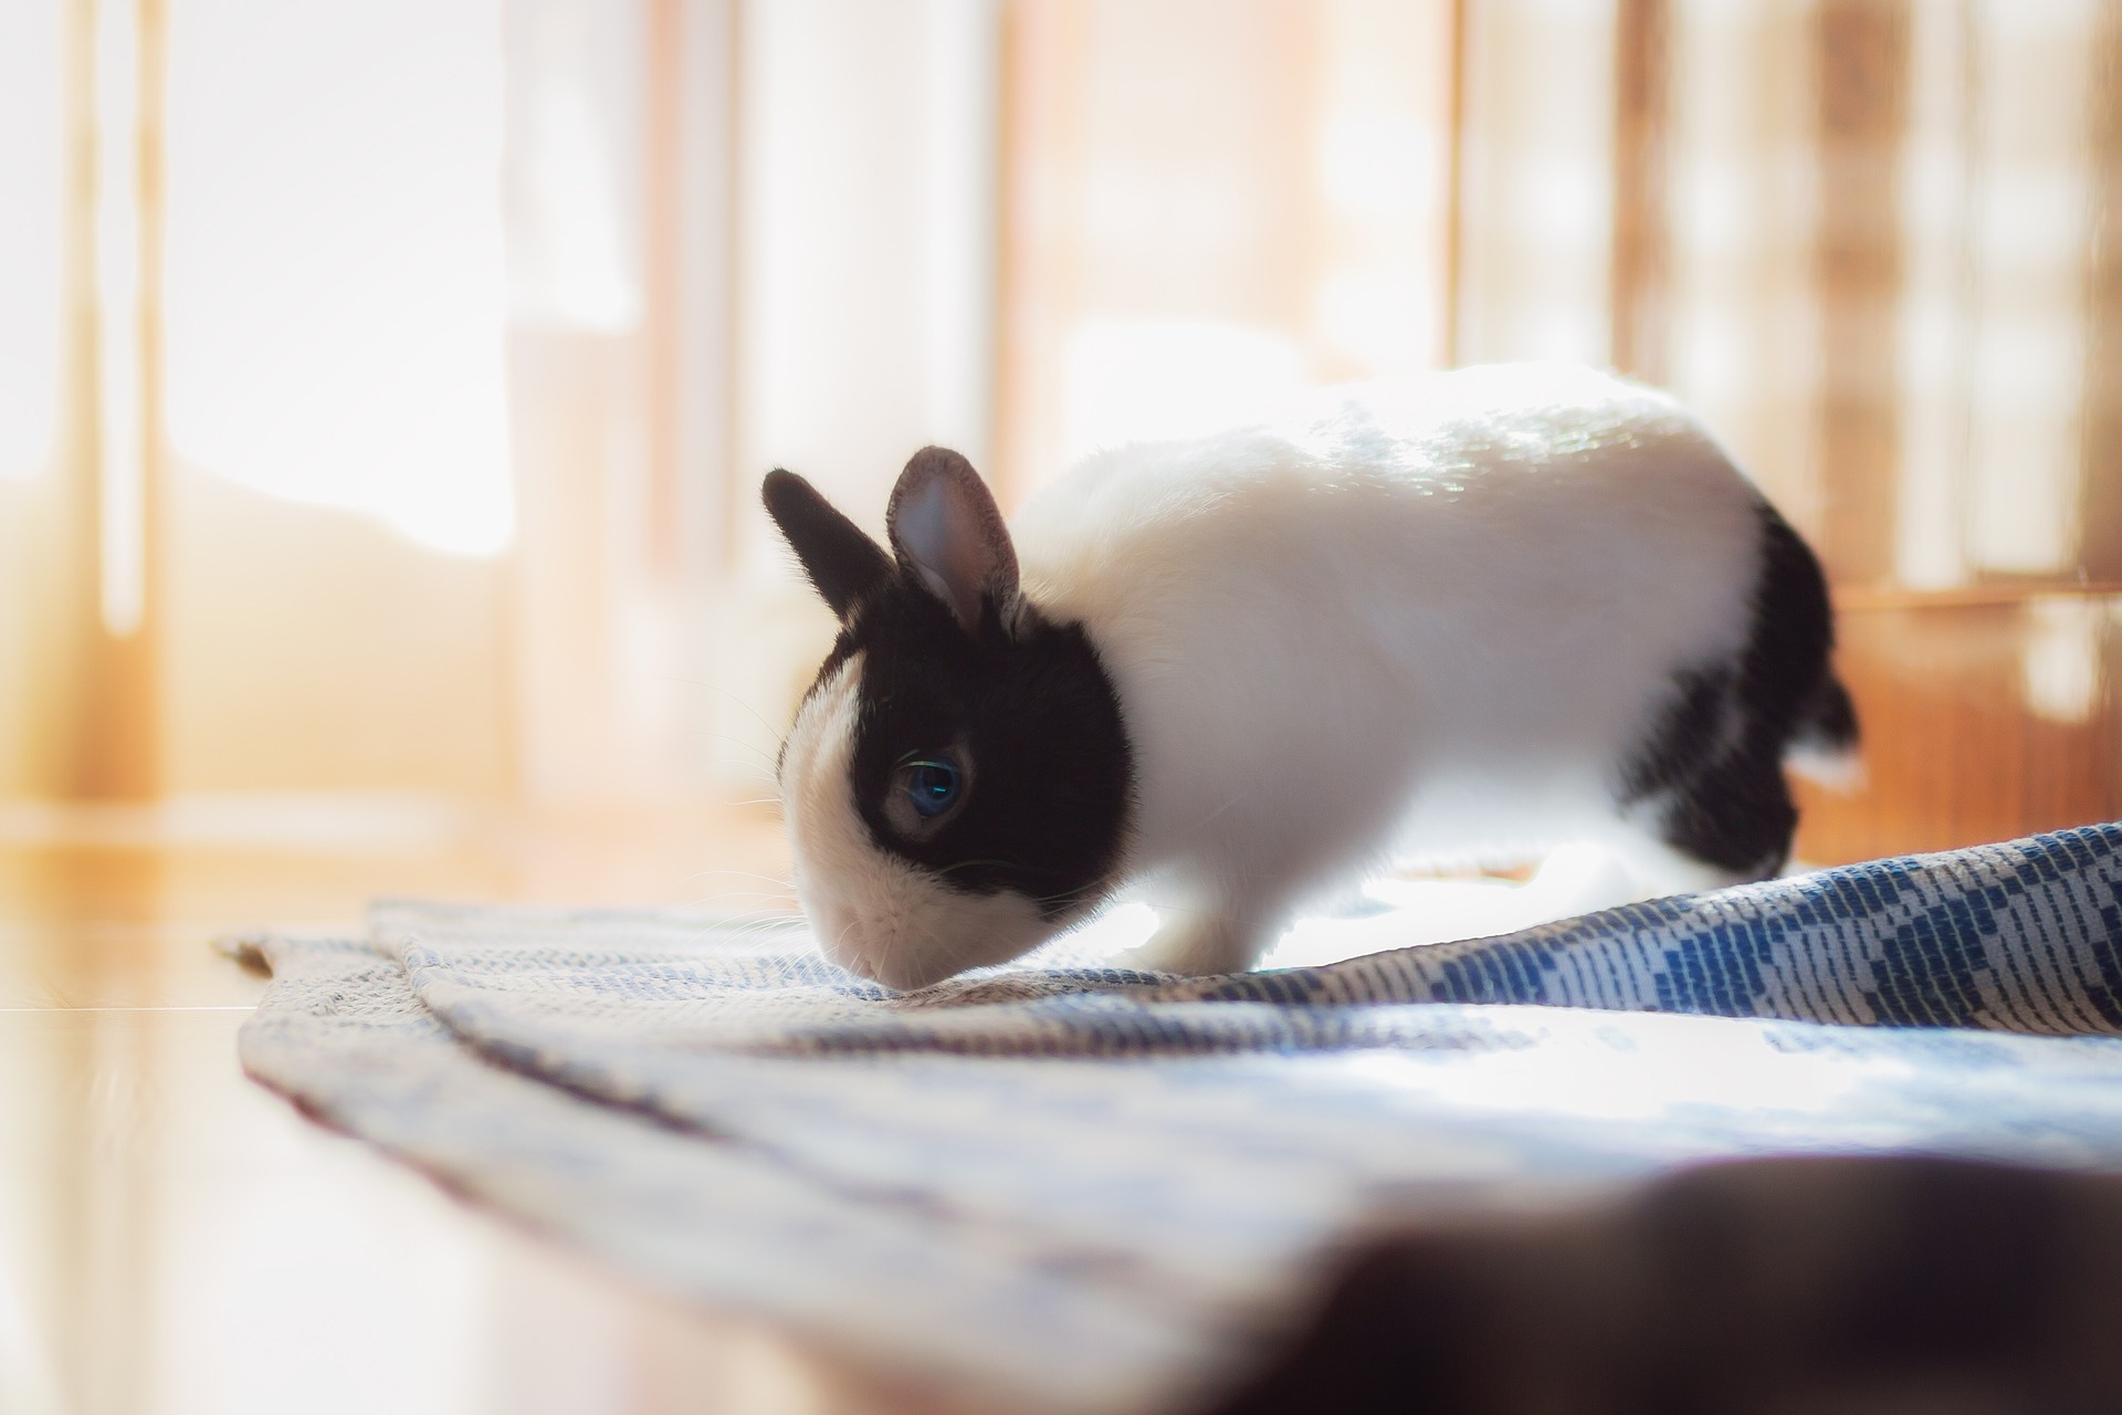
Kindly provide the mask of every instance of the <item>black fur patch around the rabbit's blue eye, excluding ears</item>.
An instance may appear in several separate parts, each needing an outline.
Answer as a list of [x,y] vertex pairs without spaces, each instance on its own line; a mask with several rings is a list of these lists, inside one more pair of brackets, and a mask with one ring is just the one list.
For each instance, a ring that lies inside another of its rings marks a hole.
[[[1112,883],[1133,806],[1120,700],[1080,624],[985,602],[978,632],[900,571],[866,598],[825,672],[859,651],[855,806],[876,844],[951,889],[1029,897],[1063,919]],[[963,743],[970,787],[925,840],[885,815],[898,766]]]

